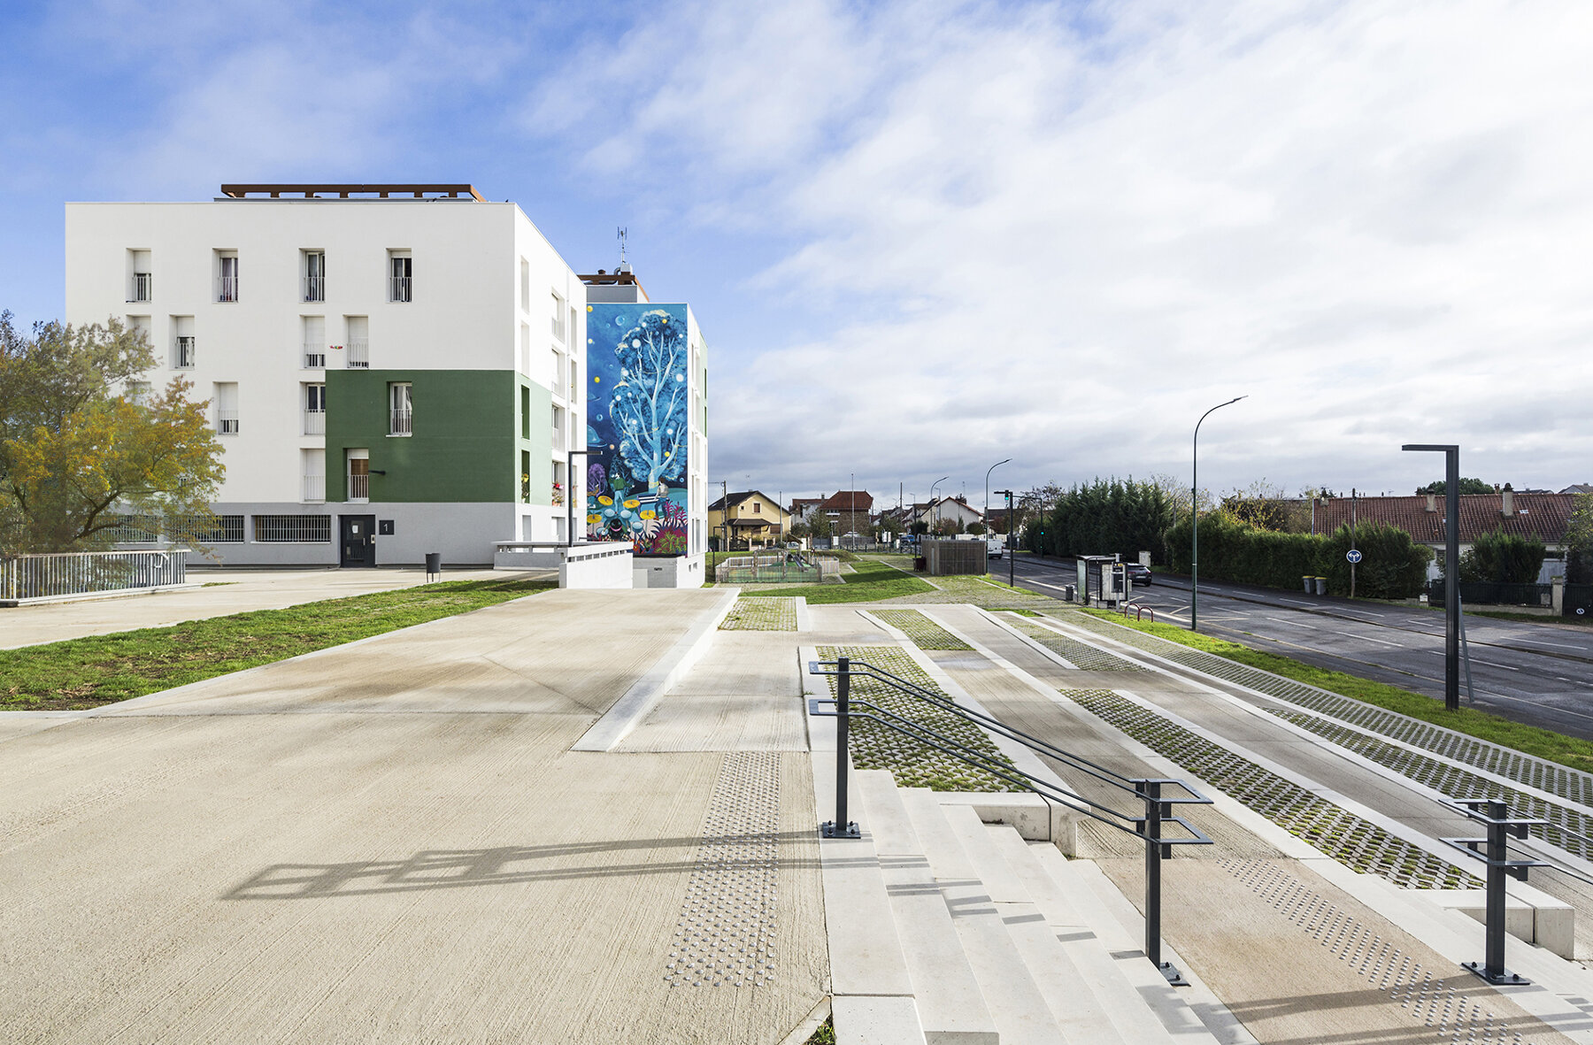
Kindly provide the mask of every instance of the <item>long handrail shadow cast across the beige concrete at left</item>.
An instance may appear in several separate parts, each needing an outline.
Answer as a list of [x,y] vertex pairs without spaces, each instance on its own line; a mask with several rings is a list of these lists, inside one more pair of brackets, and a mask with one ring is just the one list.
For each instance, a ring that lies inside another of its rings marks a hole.
[[[362,897],[421,889],[465,889],[534,881],[580,878],[632,878],[637,875],[690,873],[699,860],[660,860],[647,863],[601,863],[591,867],[548,867],[548,860],[626,851],[709,849],[774,843],[782,855],[779,868],[817,870],[819,854],[789,855],[795,843],[817,843],[816,832],[755,832],[709,838],[632,838],[623,841],[564,843],[551,846],[497,846],[492,849],[422,849],[403,860],[355,860],[350,863],[272,863],[221,894],[221,900],[309,900],[319,897]],[[714,859],[715,868],[763,868],[768,860]]]

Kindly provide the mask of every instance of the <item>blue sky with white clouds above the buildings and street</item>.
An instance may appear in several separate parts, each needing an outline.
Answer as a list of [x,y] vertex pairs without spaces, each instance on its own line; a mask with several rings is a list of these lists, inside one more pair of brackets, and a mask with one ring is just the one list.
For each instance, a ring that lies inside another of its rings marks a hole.
[[[709,342],[709,479],[1593,481],[1583,0],[10,3],[0,307],[62,204],[470,182],[616,226]],[[855,476],[855,478],[854,478]],[[992,497],[994,500],[994,497]]]

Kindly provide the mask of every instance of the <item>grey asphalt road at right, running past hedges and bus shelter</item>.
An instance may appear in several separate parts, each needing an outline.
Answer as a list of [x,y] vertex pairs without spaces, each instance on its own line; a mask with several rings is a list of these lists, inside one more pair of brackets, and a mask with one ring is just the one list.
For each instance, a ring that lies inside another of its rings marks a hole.
[[[1061,597],[1072,561],[1018,556],[1018,586]],[[1007,561],[992,572],[1007,572]],[[1134,591],[1158,621],[1188,626],[1188,581],[1157,577]],[[1203,634],[1443,699],[1443,613],[1201,583]],[[1593,741],[1593,629],[1467,616],[1475,706]],[[1461,701],[1467,699],[1462,666]]]

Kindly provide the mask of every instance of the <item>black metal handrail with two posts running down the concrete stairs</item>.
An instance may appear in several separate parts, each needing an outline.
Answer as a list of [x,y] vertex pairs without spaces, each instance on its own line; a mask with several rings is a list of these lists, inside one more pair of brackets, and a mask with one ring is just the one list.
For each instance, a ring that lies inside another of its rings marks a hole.
[[[835,671],[824,671],[825,667],[835,667]],[[855,667],[863,667],[859,672]],[[1211,798],[1206,798],[1187,782],[1174,777],[1126,777],[1121,773],[1115,773],[1082,758],[1070,752],[1064,752],[1059,747],[1032,738],[1021,730],[1013,730],[1012,726],[986,715],[983,712],[973,710],[972,707],[964,707],[954,699],[933,693],[919,687],[916,683],[898,679],[887,671],[875,667],[867,661],[852,661],[847,656],[841,656],[835,661],[809,661],[809,674],[814,675],[835,675],[835,698],[812,698],[809,701],[809,714],[820,717],[833,717],[836,720],[836,750],[835,750],[835,820],[828,820],[819,825],[819,833],[824,838],[860,838],[854,820],[846,816],[846,774],[849,766],[847,753],[847,731],[852,718],[867,718],[876,722],[889,730],[895,730],[927,747],[951,755],[977,769],[983,769],[997,779],[1007,781],[1029,790],[1040,796],[1042,801],[1056,803],[1069,808],[1075,812],[1088,816],[1101,824],[1114,827],[1128,835],[1134,835],[1145,843],[1145,957],[1157,967],[1157,970],[1166,977],[1171,984],[1185,984],[1182,973],[1172,965],[1172,962],[1161,961],[1161,860],[1172,855],[1172,846],[1209,846],[1212,844],[1200,828],[1185,820],[1180,816],[1172,814],[1172,806],[1176,804],[1211,804]],[[898,715],[897,712],[881,707],[879,704],[868,699],[852,699],[851,682],[852,675],[859,674],[868,679],[875,679],[906,696],[921,699],[932,707],[949,712],[972,722],[973,725],[992,730],[1000,736],[1005,736],[1031,750],[1048,755],[1063,761],[1067,766],[1077,768],[1091,777],[1096,777],[1112,787],[1131,792],[1137,801],[1144,803],[1144,816],[1128,816],[1110,806],[1098,801],[1091,801],[1083,795],[1070,792],[1064,787],[1058,787],[1050,781],[1042,781],[1029,773],[997,758],[988,752],[959,744],[957,741],[946,738],[935,730],[926,726],[921,722]],[[833,706],[835,710],[819,710],[822,706]],[[868,709],[868,712],[854,710],[854,704]],[[1163,784],[1176,784],[1184,789],[1185,796],[1164,798],[1161,795]],[[1172,822],[1188,832],[1187,838],[1166,838],[1163,836],[1164,824]],[[1126,825],[1133,827],[1126,827]]]

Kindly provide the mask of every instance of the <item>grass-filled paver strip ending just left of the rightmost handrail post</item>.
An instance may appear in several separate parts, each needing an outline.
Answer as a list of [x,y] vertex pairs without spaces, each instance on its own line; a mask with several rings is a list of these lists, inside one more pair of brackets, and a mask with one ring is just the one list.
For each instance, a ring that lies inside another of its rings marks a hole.
[[1061,693],[1356,871],[1405,889],[1481,889],[1453,863],[1110,690]]

